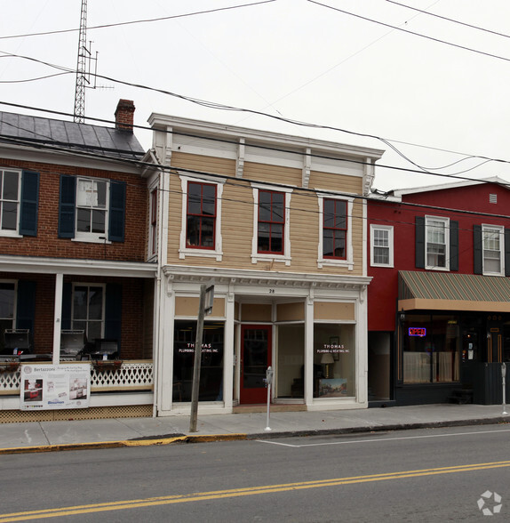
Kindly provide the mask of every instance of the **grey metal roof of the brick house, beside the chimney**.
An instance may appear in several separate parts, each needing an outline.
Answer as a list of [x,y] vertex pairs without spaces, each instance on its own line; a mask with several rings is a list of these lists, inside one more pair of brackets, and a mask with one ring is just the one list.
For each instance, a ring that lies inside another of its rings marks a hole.
[[0,111],[0,142],[122,159],[139,159],[145,152],[131,132],[3,111]]

